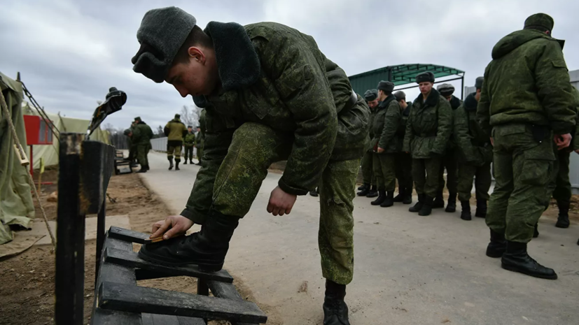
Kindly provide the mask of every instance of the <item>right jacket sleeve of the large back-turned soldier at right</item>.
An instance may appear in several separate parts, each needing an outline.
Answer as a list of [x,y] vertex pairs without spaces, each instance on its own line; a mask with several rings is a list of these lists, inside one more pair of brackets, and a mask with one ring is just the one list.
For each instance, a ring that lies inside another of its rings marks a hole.
[[563,51],[557,41],[547,42],[545,51],[535,68],[538,98],[541,101],[551,129],[556,134],[571,132],[575,127],[575,106],[569,82],[569,73]]

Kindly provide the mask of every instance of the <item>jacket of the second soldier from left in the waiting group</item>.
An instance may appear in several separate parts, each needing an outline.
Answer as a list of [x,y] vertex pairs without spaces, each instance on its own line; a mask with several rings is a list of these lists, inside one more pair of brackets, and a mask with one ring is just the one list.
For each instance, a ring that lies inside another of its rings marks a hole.
[[374,133],[373,147],[381,147],[384,154],[399,152],[402,144],[396,137],[396,131],[401,124],[402,112],[400,104],[394,95],[390,95],[380,102],[376,108],[376,115],[370,129]]

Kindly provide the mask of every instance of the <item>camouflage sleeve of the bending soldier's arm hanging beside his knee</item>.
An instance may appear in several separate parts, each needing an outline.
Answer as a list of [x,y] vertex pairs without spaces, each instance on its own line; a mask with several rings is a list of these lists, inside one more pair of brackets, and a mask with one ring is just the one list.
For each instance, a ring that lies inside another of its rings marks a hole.
[[265,33],[253,42],[263,70],[297,126],[278,185],[286,193],[305,195],[318,185],[337,134],[337,113],[323,55],[313,48],[313,40],[294,34]]

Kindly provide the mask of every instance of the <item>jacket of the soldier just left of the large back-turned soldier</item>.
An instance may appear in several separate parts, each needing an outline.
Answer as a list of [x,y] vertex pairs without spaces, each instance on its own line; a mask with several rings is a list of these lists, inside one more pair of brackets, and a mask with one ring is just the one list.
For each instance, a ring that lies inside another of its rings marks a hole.
[[482,166],[492,162],[493,148],[489,136],[478,123],[475,94],[466,96],[464,103],[454,110],[454,142],[459,148],[461,163]]

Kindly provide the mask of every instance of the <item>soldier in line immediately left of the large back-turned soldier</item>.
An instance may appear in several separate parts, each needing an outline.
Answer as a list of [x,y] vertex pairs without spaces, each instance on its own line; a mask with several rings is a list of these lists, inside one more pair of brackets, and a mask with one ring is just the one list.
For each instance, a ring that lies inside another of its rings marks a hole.
[[493,148],[491,140],[480,128],[477,120],[477,104],[482,91],[483,78],[475,82],[476,92],[468,94],[464,103],[454,111],[454,143],[459,159],[459,201],[461,201],[461,219],[470,220],[470,192],[475,189],[477,210],[475,217],[487,216],[487,201],[491,187],[491,162]]

